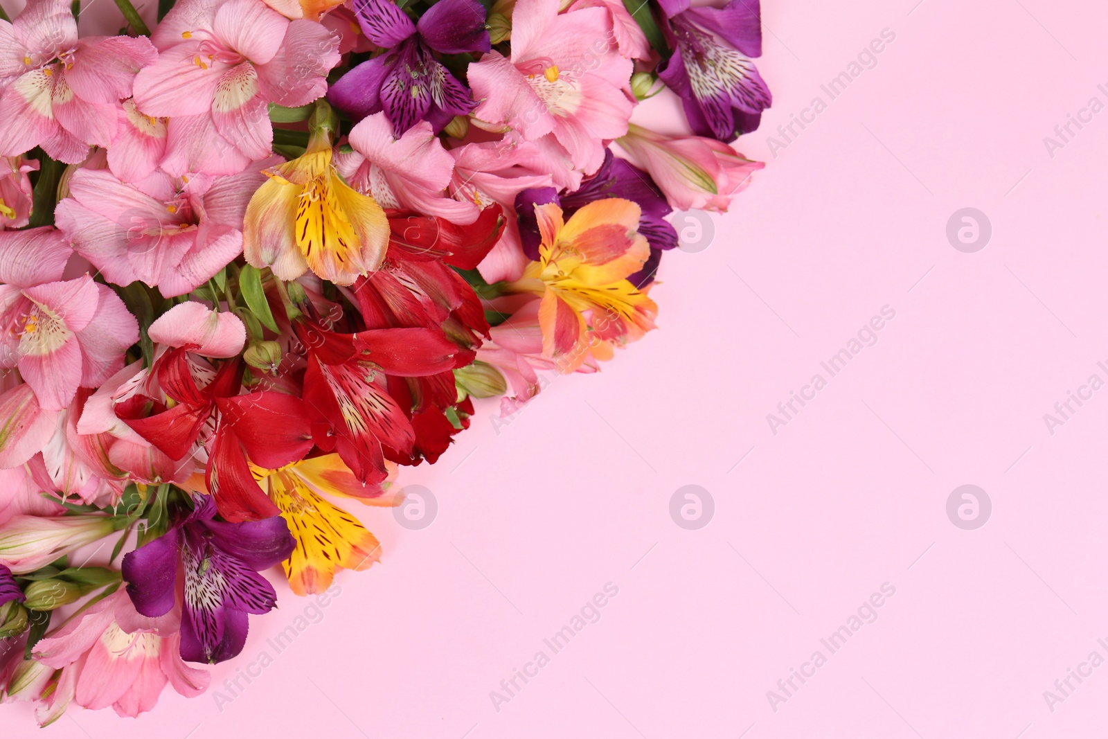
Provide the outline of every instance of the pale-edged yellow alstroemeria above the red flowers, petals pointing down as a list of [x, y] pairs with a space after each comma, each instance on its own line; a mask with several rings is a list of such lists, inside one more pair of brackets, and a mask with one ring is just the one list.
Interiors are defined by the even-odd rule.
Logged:
[[266, 170], [246, 207], [246, 260], [293, 280], [308, 269], [336, 285], [350, 285], [381, 264], [389, 240], [384, 211], [347, 185], [331, 163], [326, 136], [291, 162]]

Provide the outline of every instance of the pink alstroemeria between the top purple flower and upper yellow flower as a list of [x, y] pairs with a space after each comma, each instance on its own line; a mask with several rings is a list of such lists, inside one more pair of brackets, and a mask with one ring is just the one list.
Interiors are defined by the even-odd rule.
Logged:
[[481, 207], [445, 194], [454, 160], [431, 124], [420, 121], [399, 138], [384, 112], [362, 119], [350, 131], [352, 152], [336, 151], [335, 168], [382, 208], [403, 208], [466, 226]]

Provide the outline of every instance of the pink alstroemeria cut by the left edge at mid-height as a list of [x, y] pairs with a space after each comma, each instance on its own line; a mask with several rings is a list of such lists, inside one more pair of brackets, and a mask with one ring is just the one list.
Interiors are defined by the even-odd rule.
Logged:
[[0, 367], [19, 368], [43, 410], [106, 380], [138, 340], [112, 288], [89, 275], [62, 279], [72, 253], [49, 227], [0, 232]]

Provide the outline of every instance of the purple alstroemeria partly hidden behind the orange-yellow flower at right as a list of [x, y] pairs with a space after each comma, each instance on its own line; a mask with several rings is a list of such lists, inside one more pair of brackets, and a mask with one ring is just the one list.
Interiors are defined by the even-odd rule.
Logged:
[[529, 259], [538, 260], [538, 245], [542, 237], [538, 233], [538, 222], [535, 219], [536, 205], [557, 203], [568, 219], [578, 208], [605, 197], [622, 197], [637, 203], [642, 209], [638, 233], [646, 236], [646, 240], [650, 244], [650, 256], [643, 265], [643, 269], [627, 279], [636, 287], [649, 285], [658, 270], [661, 253], [677, 246], [677, 230], [666, 220], [673, 208], [650, 179], [650, 175], [613, 156], [612, 150], [605, 154], [601, 168], [572, 193], [558, 195], [553, 187], [532, 187], [520, 192], [515, 198], [515, 212], [519, 214], [523, 253]]

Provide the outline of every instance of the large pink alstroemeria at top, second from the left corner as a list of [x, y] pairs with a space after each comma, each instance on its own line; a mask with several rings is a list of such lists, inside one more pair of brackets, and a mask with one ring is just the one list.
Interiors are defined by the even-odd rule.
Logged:
[[181, 0], [151, 39], [161, 53], [135, 79], [134, 103], [171, 116], [162, 167], [175, 175], [234, 174], [269, 156], [268, 104], [321, 96], [340, 59], [327, 28], [261, 0]]

